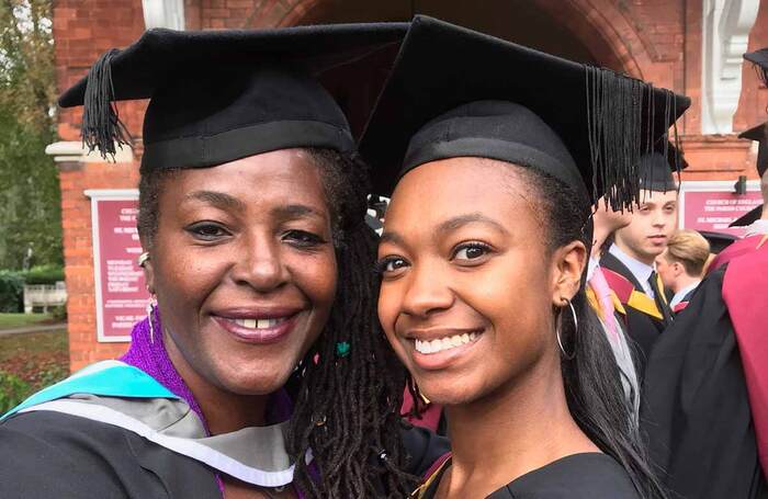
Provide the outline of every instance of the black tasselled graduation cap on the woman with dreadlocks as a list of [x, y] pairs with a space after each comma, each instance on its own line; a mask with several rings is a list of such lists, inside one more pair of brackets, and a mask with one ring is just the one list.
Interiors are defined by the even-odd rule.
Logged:
[[325, 88], [321, 80], [396, 47], [407, 27], [373, 23], [150, 30], [129, 47], [102, 55], [59, 104], [84, 104], [83, 140], [106, 157], [114, 155], [115, 143], [129, 141], [113, 101], [150, 99], [143, 171], [211, 167], [292, 147], [348, 152], [354, 139], [335, 98], [345, 101], [346, 91], [366, 84], [377, 92], [386, 71], [364, 68], [342, 88]]

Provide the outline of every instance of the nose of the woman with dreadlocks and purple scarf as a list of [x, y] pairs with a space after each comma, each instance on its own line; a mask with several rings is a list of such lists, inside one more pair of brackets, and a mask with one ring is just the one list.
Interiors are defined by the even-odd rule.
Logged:
[[268, 235], [244, 237], [238, 245], [231, 279], [259, 293], [270, 293], [287, 282], [289, 271], [281, 258], [281, 245]]

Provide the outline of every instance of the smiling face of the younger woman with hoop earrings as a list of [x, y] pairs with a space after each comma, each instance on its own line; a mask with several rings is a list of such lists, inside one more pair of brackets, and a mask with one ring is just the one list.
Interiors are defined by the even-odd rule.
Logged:
[[[576, 293], [586, 249], [547, 249], [519, 170], [477, 158], [434, 161], [408, 172], [392, 197], [379, 317], [434, 402], [476, 400], [537, 370], [560, 377], [552, 310]], [[578, 264], [563, 265], [576, 253]]]

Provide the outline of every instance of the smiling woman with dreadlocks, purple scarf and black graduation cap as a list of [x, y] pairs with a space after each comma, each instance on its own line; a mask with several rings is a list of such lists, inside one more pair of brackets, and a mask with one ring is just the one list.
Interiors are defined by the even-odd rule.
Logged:
[[[153, 304], [120, 361], [4, 416], [1, 497], [411, 490], [404, 375], [374, 326], [365, 170], [315, 77], [405, 29], [149, 31], [61, 98], [84, 103], [102, 152], [125, 138], [111, 101], [151, 98], [138, 233]], [[428, 456], [414, 457], [418, 472]]]

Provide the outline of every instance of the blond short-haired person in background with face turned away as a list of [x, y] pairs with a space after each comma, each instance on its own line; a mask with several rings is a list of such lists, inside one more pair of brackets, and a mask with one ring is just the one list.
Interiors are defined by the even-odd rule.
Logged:
[[667, 248], [656, 257], [656, 272], [664, 286], [675, 294], [669, 300], [675, 315], [688, 306], [709, 258], [710, 243], [701, 234], [690, 229], [673, 234]]

